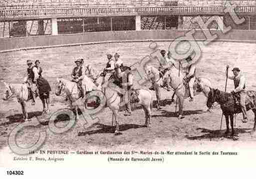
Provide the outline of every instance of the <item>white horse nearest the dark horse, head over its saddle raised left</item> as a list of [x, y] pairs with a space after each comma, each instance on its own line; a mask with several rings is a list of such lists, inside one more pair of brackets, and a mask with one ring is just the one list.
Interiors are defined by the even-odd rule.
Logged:
[[[184, 99], [188, 98], [190, 96], [190, 91], [189, 89], [186, 87], [186, 85], [184, 84], [184, 76], [183, 74], [180, 72], [179, 70], [175, 67], [172, 67], [170, 70], [168, 70], [164, 77], [164, 79], [169, 78], [169, 84], [170, 86], [174, 89], [174, 92], [178, 98], [178, 103], [179, 103], [179, 113], [178, 113], [178, 117], [179, 119], [183, 118], [183, 103], [184, 103]], [[193, 86], [194, 91], [193, 92], [194, 96], [198, 95], [199, 92], [203, 92], [205, 94], [206, 97], [208, 97], [208, 93], [210, 92], [209, 87], [212, 86], [211, 82], [206, 79], [206, 78], [196, 78], [195, 79], [195, 83], [196, 84], [204, 84], [202, 86], [202, 89], [199, 90], [195, 90], [196, 86]], [[211, 109], [209, 109], [211, 110]]]

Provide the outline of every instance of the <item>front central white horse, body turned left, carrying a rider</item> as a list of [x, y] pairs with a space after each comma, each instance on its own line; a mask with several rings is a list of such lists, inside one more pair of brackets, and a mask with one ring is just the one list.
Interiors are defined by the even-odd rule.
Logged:
[[[97, 84], [102, 84], [104, 77], [99, 76], [97, 81]], [[113, 111], [113, 115], [115, 116], [116, 120], [116, 130], [115, 134], [119, 134], [119, 116], [118, 111], [120, 109], [121, 104], [121, 97], [117, 92], [118, 87], [112, 86], [113, 84], [106, 84], [106, 86], [102, 86], [102, 92], [105, 95], [105, 98], [107, 100], [106, 106], [110, 108], [111, 111]], [[119, 88], [120, 89], [120, 88]], [[145, 126], [148, 127], [151, 124], [151, 110], [152, 110], [152, 95], [151, 92], [146, 89], [137, 89], [138, 93], [138, 103], [136, 103], [136, 106], [141, 105], [143, 106], [143, 110], [145, 112]], [[88, 94], [89, 95], [89, 94]]]

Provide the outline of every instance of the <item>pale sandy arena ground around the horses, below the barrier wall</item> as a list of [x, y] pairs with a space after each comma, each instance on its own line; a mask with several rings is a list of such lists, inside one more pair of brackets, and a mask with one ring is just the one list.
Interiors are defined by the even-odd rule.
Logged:
[[[170, 42], [157, 42], [160, 48], [168, 49]], [[204, 46], [199, 42], [202, 49], [202, 60], [198, 64], [198, 76], [211, 80], [216, 88], [224, 90], [225, 69], [229, 64], [231, 68], [240, 67], [246, 77], [248, 89], [256, 89], [256, 48], [251, 43], [235, 42], [214, 42]], [[62, 77], [70, 79], [70, 73], [75, 66], [74, 59], [83, 57], [85, 63], [96, 66], [98, 70], [105, 67], [106, 56], [110, 52], [118, 52], [124, 64], [131, 65], [138, 59], [149, 55], [152, 50], [148, 47], [149, 42], [136, 43], [104, 43], [85, 46], [71, 46], [47, 49], [35, 49], [27, 51], [15, 51], [2, 53], [0, 55], [0, 94], [3, 93], [3, 81], [9, 83], [21, 83], [26, 73], [26, 60], [35, 61], [39, 59], [43, 69], [43, 76], [49, 81], [52, 87], [51, 110], [65, 108], [67, 103], [62, 96], [57, 97], [55, 93], [55, 79]], [[179, 50], [186, 51], [187, 45], [182, 45]], [[230, 71], [231, 72], [231, 71]], [[233, 81], [228, 81], [228, 91], [233, 90]], [[155, 92], [151, 91], [154, 100]], [[161, 89], [162, 99], [170, 99], [172, 91]], [[195, 97], [194, 102], [185, 100], [185, 118], [178, 120], [175, 116], [175, 103], [168, 103], [163, 109], [152, 111], [152, 125], [144, 128], [144, 111], [137, 109], [132, 116], [125, 117], [124, 112], [120, 112], [120, 131], [122, 135], [114, 136], [115, 130], [112, 127], [112, 113], [107, 108], [104, 113], [98, 115], [100, 121], [94, 127], [86, 130], [83, 126], [76, 124], [71, 130], [60, 135], [48, 134], [43, 148], [47, 149], [94, 149], [94, 148], [147, 148], [181, 147], [189, 146], [241, 146], [241, 144], [251, 144], [256, 142], [256, 137], [250, 132], [253, 128], [253, 115], [249, 112], [249, 122], [243, 124], [242, 115], [238, 115], [236, 121], [236, 135], [238, 140], [224, 137], [226, 124], [223, 122], [220, 131], [221, 109], [215, 108], [212, 113], [205, 112], [206, 98], [203, 94]], [[39, 100], [35, 106], [27, 103], [29, 118], [40, 117], [42, 105]], [[63, 117], [65, 118], [65, 117]], [[10, 131], [22, 121], [21, 108], [16, 99], [2, 101], [0, 99], [0, 149], [7, 146], [7, 137]], [[67, 123], [65, 119], [58, 122], [59, 126]], [[47, 123], [42, 123], [39, 127], [25, 128], [17, 136], [17, 143], [21, 147], [32, 145], [38, 138], [38, 131], [48, 128]], [[3, 152], [3, 151], [2, 151]], [[1, 153], [1, 152], [0, 152]]]

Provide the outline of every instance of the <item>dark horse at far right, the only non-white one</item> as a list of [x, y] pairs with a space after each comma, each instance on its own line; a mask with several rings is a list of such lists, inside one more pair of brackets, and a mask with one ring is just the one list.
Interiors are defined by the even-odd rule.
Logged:
[[[214, 102], [217, 102], [221, 105], [222, 112], [226, 118], [227, 131], [225, 134], [229, 133], [229, 118], [232, 133], [231, 136], [234, 136], [234, 114], [241, 113], [241, 107], [239, 104], [236, 104], [235, 97], [231, 93], [223, 92], [218, 89], [212, 89], [209, 92], [207, 107], [210, 108]], [[247, 99], [246, 99], [246, 108], [247, 111], [252, 110], [255, 116], [254, 128], [253, 132], [256, 130], [256, 92], [255, 91], [247, 91]]]

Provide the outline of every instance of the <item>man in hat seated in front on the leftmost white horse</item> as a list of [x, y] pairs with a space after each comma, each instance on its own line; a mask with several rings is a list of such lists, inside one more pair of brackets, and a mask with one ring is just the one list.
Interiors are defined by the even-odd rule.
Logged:
[[36, 82], [34, 82], [34, 72], [33, 72], [33, 66], [32, 61], [27, 60], [27, 76], [24, 78], [24, 83], [28, 83], [28, 87], [31, 89], [32, 92], [32, 105], [35, 105], [35, 94], [36, 94]]

